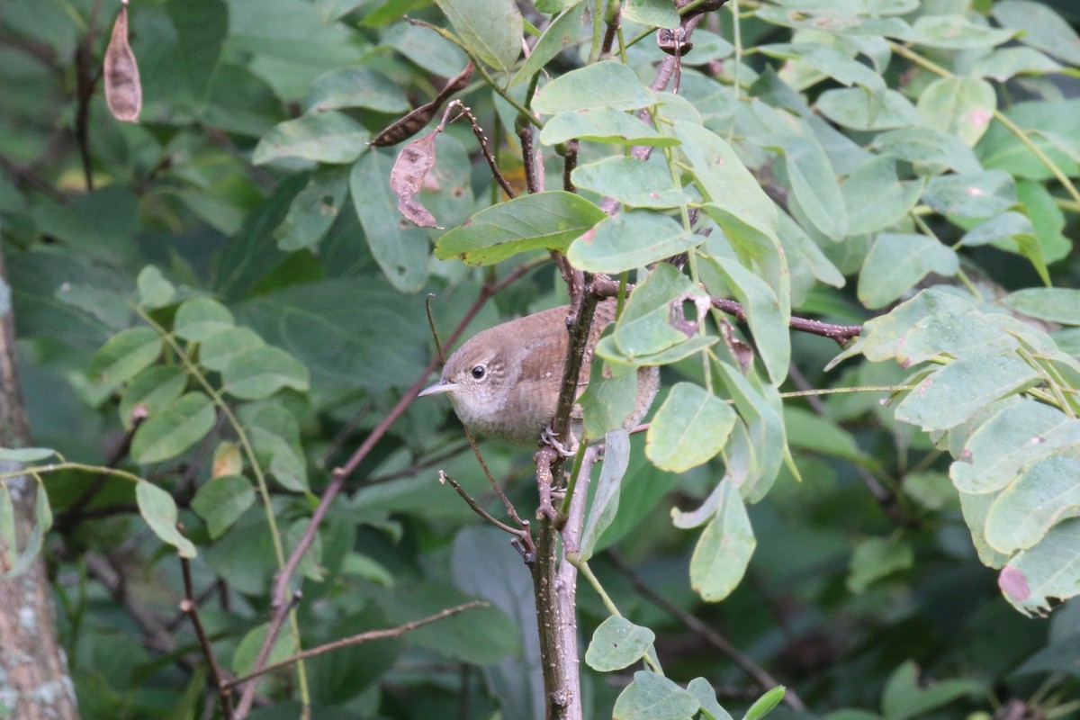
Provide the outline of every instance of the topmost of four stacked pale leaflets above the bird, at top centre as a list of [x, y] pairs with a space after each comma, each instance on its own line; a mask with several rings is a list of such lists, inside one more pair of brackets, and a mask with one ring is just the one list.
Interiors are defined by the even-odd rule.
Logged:
[[532, 109], [543, 114], [595, 110], [637, 110], [654, 105], [657, 97], [622, 63], [605, 60], [571, 70], [540, 89]]

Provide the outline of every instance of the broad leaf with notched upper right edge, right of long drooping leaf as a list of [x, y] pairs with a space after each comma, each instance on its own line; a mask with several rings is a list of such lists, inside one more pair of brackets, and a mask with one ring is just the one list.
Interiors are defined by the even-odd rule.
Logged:
[[848, 233], [867, 234], [900, 222], [919, 202], [924, 187], [921, 180], [901, 182], [892, 158], [870, 158], [840, 186], [848, 210]]

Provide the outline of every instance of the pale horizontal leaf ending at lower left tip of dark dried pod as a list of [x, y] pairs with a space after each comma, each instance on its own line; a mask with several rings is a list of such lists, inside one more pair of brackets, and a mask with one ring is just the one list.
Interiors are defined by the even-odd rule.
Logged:
[[349, 116], [329, 110], [279, 123], [255, 147], [252, 162], [262, 165], [282, 158], [323, 163], [351, 163], [367, 149], [370, 133]]

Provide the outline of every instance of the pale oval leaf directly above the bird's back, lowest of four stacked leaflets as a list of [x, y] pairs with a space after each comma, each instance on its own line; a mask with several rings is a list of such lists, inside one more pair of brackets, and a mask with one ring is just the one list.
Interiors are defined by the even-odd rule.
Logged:
[[703, 241], [666, 215], [624, 210], [570, 243], [566, 255], [577, 270], [613, 275], [685, 253]]

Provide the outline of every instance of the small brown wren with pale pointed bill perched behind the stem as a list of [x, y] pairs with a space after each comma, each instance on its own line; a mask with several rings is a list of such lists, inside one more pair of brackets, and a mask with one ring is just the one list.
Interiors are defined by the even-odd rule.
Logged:
[[[516, 445], [536, 444], [551, 425], [558, 404], [570, 340], [565, 324], [568, 311], [568, 305], [553, 308], [477, 332], [450, 355], [442, 378], [420, 396], [447, 393], [454, 411], [471, 429]], [[615, 300], [596, 305], [578, 395], [589, 384], [596, 341], [615, 320]], [[625, 426], [645, 417], [658, 385], [656, 367], [638, 369], [636, 407]], [[580, 407], [575, 406], [571, 419], [580, 421]]]

